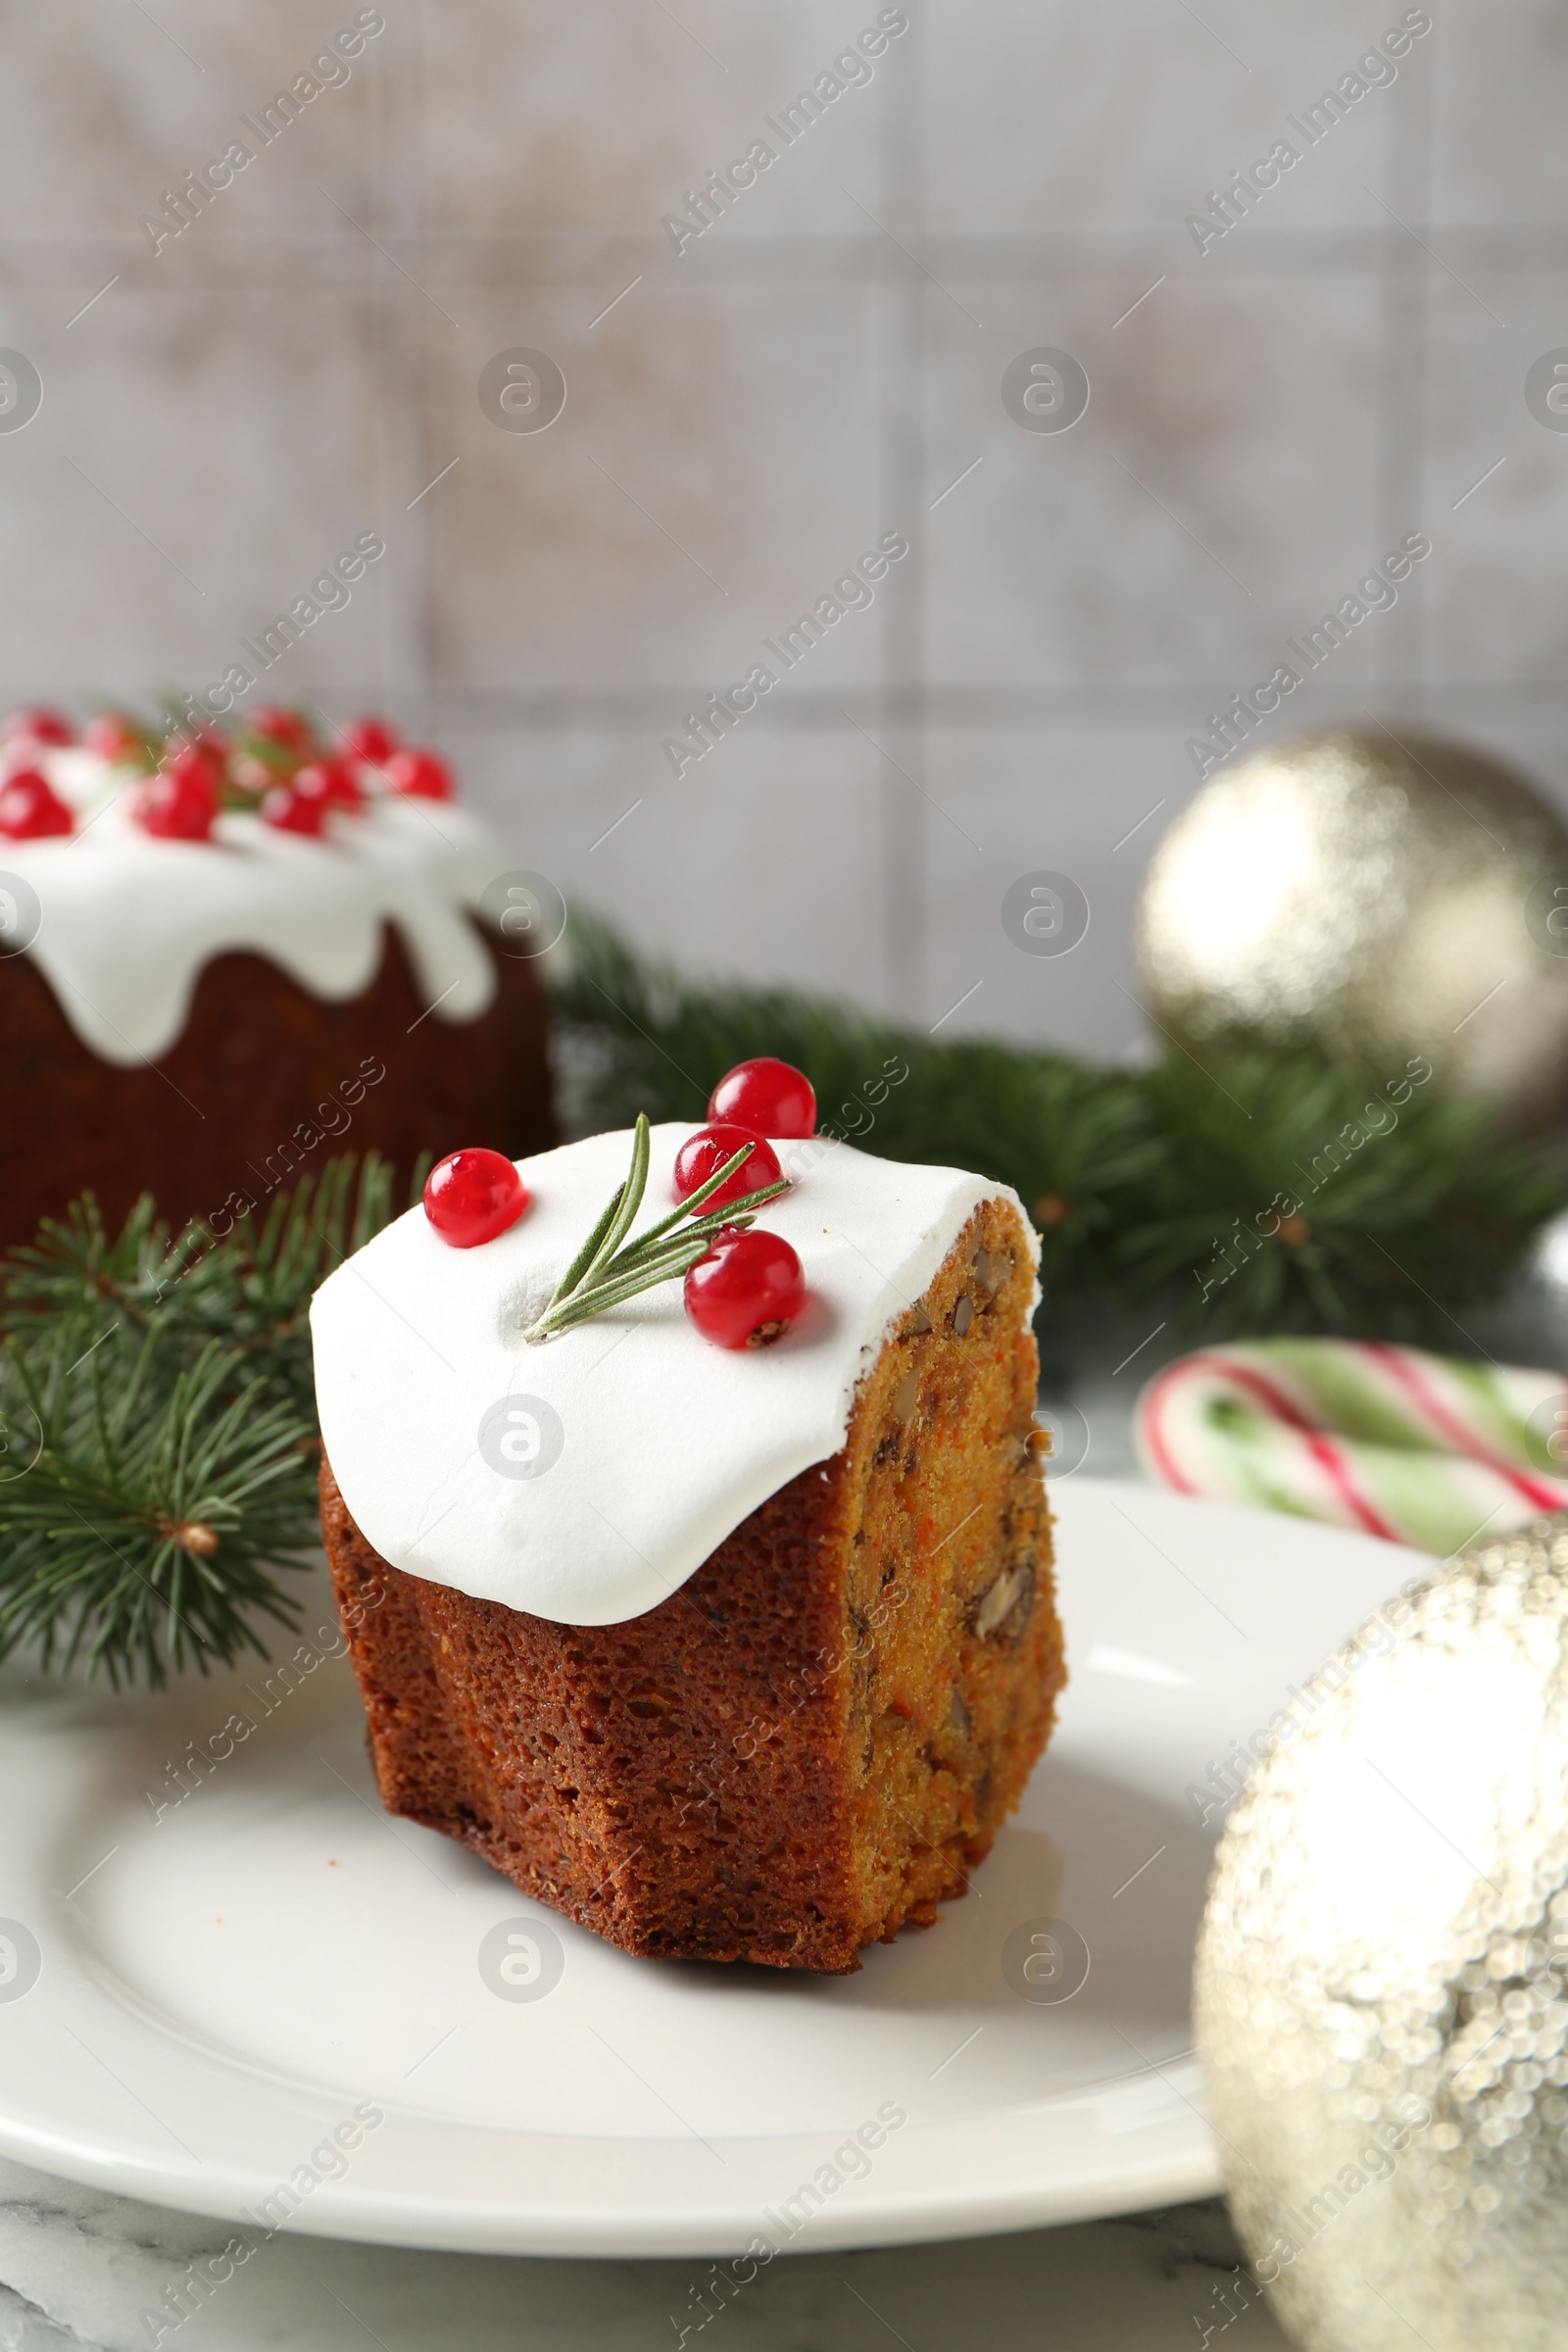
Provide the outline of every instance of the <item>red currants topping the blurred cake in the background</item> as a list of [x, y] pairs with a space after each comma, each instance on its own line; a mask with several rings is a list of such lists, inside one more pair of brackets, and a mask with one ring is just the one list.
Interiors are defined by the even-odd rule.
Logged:
[[143, 724], [125, 710], [89, 720], [80, 741], [59, 710], [12, 710], [0, 724], [0, 835], [45, 840], [75, 830], [68, 802], [47, 776], [52, 753], [85, 750], [129, 790], [143, 833], [205, 842], [223, 811], [259, 816], [280, 833], [320, 840], [336, 816], [371, 800], [451, 800], [451, 769], [397, 741], [386, 720], [324, 729], [303, 710], [266, 703], [230, 731], [176, 720]]

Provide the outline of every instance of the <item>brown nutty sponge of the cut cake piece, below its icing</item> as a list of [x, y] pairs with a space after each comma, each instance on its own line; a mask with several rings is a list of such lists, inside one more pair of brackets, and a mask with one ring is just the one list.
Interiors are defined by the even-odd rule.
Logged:
[[1032, 1240], [985, 1202], [849, 1439], [658, 1609], [555, 1625], [407, 1576], [322, 1468], [381, 1799], [628, 1952], [846, 1971], [966, 1889], [1065, 1682]]

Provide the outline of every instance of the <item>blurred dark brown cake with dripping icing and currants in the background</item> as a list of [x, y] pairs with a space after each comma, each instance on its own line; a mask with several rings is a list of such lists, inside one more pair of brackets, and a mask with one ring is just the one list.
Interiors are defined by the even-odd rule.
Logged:
[[503, 863], [378, 720], [14, 713], [0, 1247], [82, 1190], [223, 1235], [331, 1150], [550, 1143], [541, 993], [475, 913]]

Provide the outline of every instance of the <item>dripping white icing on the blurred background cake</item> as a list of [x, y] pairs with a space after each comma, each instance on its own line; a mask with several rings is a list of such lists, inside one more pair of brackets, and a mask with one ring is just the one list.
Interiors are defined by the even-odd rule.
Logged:
[[35, 889], [42, 924], [26, 953], [103, 1061], [167, 1054], [214, 955], [252, 950], [315, 997], [355, 997], [381, 967], [388, 922], [437, 1021], [489, 1009], [496, 969], [468, 908], [505, 856], [468, 809], [383, 795], [331, 818], [322, 840], [219, 816], [209, 842], [169, 842], [136, 826], [92, 753], [38, 764], [80, 830], [0, 840], [0, 868]]

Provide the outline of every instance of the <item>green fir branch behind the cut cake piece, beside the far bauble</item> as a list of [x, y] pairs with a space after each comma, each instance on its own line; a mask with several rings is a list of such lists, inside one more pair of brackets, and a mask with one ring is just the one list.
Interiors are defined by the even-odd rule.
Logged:
[[[1046, 1308], [1114, 1296], [1204, 1331], [1403, 1334], [1462, 1350], [1568, 1204], [1559, 1155], [1502, 1138], [1427, 1077], [1314, 1056], [1171, 1054], [1105, 1070], [992, 1040], [936, 1042], [788, 988], [693, 983], [574, 917], [555, 985], [590, 1127], [701, 1120], [738, 1061], [802, 1068], [820, 1120], [889, 1160], [1011, 1183], [1044, 1235]], [[886, 1080], [889, 1070], [903, 1080]]]

